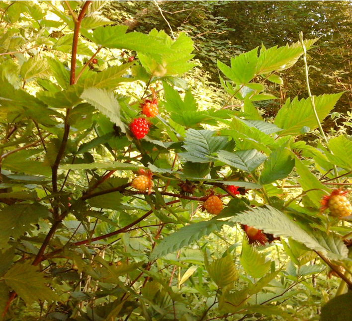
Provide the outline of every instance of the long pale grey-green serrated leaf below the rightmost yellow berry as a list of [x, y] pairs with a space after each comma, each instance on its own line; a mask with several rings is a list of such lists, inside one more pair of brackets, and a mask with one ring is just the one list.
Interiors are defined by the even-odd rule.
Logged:
[[[332, 233], [324, 235], [324, 237], [321, 234], [318, 234], [319, 237], [310, 235], [285, 214], [271, 206], [251, 209], [237, 215], [235, 219], [241, 224], [254, 226], [274, 236], [290, 237], [331, 259], [343, 259], [348, 254], [346, 245], [344, 249], [336, 244], [336, 237]], [[323, 238], [323, 241], [319, 238]], [[320, 241], [322, 241], [322, 244], [320, 244]]]

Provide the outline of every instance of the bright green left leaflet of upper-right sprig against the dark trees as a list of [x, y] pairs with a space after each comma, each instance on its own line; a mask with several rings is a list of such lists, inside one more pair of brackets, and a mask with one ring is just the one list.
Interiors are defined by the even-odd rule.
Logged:
[[231, 58], [231, 68], [218, 61], [219, 69], [236, 84], [250, 82], [257, 75], [257, 65], [258, 47], [235, 58]]

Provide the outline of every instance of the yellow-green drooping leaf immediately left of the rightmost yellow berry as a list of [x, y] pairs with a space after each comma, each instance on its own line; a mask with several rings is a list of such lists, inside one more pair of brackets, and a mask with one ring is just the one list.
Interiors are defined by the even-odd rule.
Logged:
[[309, 168], [298, 158], [295, 158], [295, 165], [296, 171], [299, 175], [298, 182], [301, 184], [303, 191], [308, 191], [313, 188], [321, 189], [312, 190], [306, 193], [316, 207], [320, 207], [322, 197], [327, 194], [324, 193], [324, 191], [330, 193], [330, 189], [326, 185], [322, 184], [320, 180], [309, 171]]

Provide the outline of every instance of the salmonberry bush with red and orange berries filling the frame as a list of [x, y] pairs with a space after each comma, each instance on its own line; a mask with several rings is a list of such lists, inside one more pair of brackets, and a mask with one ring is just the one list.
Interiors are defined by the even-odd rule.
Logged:
[[[310, 92], [317, 39], [218, 61], [203, 108], [192, 40], [105, 2], [0, 3], [0, 320], [351, 316], [352, 140], [322, 127], [343, 93]], [[299, 59], [306, 98], [265, 119]]]

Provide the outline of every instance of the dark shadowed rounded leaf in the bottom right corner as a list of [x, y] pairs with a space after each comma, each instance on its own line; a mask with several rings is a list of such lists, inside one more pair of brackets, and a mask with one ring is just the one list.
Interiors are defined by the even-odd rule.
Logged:
[[323, 308], [321, 321], [352, 321], [352, 291], [331, 299]]

